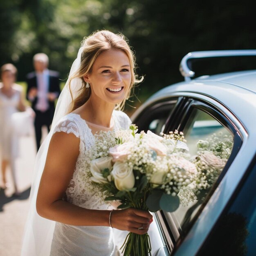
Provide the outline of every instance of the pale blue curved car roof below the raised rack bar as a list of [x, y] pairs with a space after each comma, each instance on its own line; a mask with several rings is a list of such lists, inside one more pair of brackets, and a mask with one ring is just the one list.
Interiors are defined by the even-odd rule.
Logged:
[[141, 111], [156, 101], [174, 96], [200, 99], [200, 95], [218, 101], [240, 120], [247, 131], [255, 131], [256, 70], [201, 76], [169, 85], [153, 94], [131, 118], [136, 118]]

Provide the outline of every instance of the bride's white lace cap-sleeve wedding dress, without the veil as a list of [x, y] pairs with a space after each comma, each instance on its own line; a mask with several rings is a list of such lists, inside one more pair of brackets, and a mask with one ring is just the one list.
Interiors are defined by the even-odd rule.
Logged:
[[[129, 117], [121, 111], [114, 110], [112, 119], [115, 130], [127, 129], [131, 124]], [[80, 153], [63, 200], [87, 209], [109, 209], [110, 205], [92, 192], [86, 175], [90, 171], [88, 150], [94, 145], [94, 136], [86, 121], [80, 115], [70, 113], [58, 122], [54, 132], [73, 133], [80, 139]], [[56, 222], [50, 255], [117, 256], [119, 251], [110, 227], [72, 226]]]

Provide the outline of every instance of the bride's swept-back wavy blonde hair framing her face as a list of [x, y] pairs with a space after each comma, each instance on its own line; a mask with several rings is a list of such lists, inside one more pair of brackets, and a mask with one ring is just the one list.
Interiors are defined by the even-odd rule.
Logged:
[[[79, 70], [70, 78], [69, 88], [72, 97], [72, 104], [70, 111], [72, 112], [76, 108], [82, 106], [91, 95], [91, 88], [86, 88], [85, 81], [83, 76], [90, 74], [92, 72], [92, 66], [96, 58], [104, 51], [108, 49], [119, 49], [126, 53], [129, 58], [130, 67], [131, 67], [131, 83], [129, 85], [128, 92], [124, 100], [117, 104], [115, 109], [122, 110], [126, 99], [130, 97], [131, 90], [135, 83], [139, 83], [143, 80], [141, 77], [140, 80], [137, 79], [137, 74], [135, 73], [135, 55], [132, 52], [130, 46], [128, 45], [128, 40], [121, 33], [114, 34], [108, 30], [95, 31], [87, 38], [84, 38], [82, 42], [82, 54], [81, 54], [81, 64]], [[72, 90], [71, 90], [71, 81], [72, 79], [82, 79], [82, 87], [79, 90], [79, 93], [75, 99], [73, 99]]]

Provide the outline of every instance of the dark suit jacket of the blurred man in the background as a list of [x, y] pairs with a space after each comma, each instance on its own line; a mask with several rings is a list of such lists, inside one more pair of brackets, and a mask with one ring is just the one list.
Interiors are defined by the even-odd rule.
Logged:
[[[31, 88], [37, 88], [37, 79], [36, 79], [36, 72], [31, 72], [27, 74], [27, 99], [28, 98], [28, 92]], [[48, 92], [55, 92], [57, 94], [57, 97], [61, 93], [60, 90], [60, 81], [59, 81], [59, 73], [53, 70], [49, 70], [49, 89]], [[37, 97], [33, 101], [31, 101], [32, 108], [35, 110], [35, 106], [37, 103]], [[50, 110], [50, 118], [53, 118], [55, 105], [54, 101], [48, 101], [49, 103], [49, 110]]]

